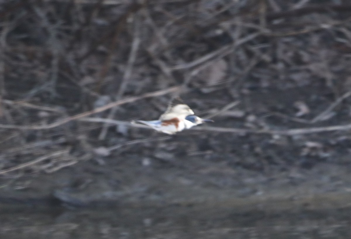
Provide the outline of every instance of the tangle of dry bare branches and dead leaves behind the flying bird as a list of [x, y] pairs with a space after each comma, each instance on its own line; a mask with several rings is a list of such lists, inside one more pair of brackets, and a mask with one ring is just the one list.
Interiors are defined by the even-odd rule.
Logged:
[[[0, 175], [135, 155], [350, 165], [350, 13], [342, 0], [5, 1]], [[128, 123], [176, 95], [216, 122], [176, 139]]]

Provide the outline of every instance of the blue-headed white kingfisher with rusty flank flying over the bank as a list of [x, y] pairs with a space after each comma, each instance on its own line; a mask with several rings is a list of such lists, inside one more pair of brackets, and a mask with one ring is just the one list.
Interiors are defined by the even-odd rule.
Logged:
[[169, 135], [176, 134], [184, 129], [202, 124], [204, 122], [213, 122], [194, 115], [194, 111], [178, 97], [168, 104], [166, 112], [164, 112], [158, 120], [143, 121], [137, 120], [132, 123], [146, 124], [154, 130], [164, 132]]

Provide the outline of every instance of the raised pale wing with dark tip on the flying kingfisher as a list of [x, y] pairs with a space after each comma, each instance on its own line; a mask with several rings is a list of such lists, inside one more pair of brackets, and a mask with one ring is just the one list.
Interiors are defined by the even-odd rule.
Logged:
[[177, 97], [174, 98], [169, 104], [166, 109], [166, 112], [164, 112], [159, 120], [160, 121], [165, 121], [165, 120], [171, 120], [173, 118], [179, 118], [180, 120], [184, 120], [186, 116], [188, 115], [193, 115], [194, 112], [190, 109], [190, 107], [185, 104], [181, 98]]

